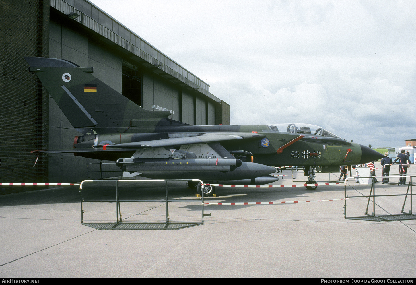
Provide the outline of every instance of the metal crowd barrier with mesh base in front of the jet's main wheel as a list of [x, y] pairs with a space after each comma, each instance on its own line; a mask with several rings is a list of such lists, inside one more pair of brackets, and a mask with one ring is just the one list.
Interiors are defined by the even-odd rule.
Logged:
[[[116, 199], [115, 200], [83, 200], [82, 196], [82, 189], [84, 183], [87, 182], [108, 182], [113, 181], [115, 182], [115, 192], [116, 192]], [[197, 226], [202, 225], [204, 222], [204, 216], [210, 216], [210, 214], [204, 214], [204, 197], [202, 197], [198, 200], [202, 201], [202, 220], [198, 222], [171, 222], [169, 221], [169, 208], [168, 203], [170, 202], [196, 202], [196, 200], [169, 200], [168, 199], [168, 181], [197, 181], [201, 184], [204, 184], [201, 180], [198, 179], [152, 179], [152, 180], [84, 180], [79, 185], [79, 188], [81, 189], [81, 224], [85, 226], [89, 226], [92, 228], [97, 228], [100, 230], [174, 230], [179, 228], [187, 228], [191, 226]], [[162, 200], [120, 200], [119, 199], [119, 182], [126, 182], [126, 183], [143, 183], [143, 182], [165, 182], [165, 189], [166, 189], [166, 199]], [[115, 202], [116, 203], [116, 221], [110, 222], [110, 223], [84, 223], [84, 209], [83, 209], [83, 203], [88, 202]], [[121, 208], [120, 203], [124, 202], [164, 202], [166, 204], [166, 220], [163, 222], [123, 222], [121, 218]]]

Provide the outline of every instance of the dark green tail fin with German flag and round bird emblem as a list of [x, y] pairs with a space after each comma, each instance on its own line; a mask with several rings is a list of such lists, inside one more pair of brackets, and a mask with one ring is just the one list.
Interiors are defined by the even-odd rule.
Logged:
[[25, 57], [29, 72], [39, 77], [43, 86], [76, 129], [126, 128], [131, 120], [158, 120], [169, 111], [149, 111], [130, 101], [92, 75], [92, 67], [43, 57]]

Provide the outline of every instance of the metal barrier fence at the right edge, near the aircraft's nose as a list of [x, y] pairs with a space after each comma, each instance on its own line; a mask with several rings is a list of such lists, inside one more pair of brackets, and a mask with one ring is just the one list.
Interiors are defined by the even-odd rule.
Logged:
[[[410, 178], [409, 183], [407, 184], [407, 191], [406, 194], [389, 194], [389, 195], [376, 195], [375, 192], [375, 181], [376, 178]], [[351, 219], [351, 220], [363, 220], [363, 221], [378, 221], [378, 222], [385, 222], [385, 221], [402, 221], [402, 220], [416, 220], [416, 214], [413, 213], [412, 210], [412, 196], [416, 195], [412, 192], [413, 186], [413, 178], [416, 176], [369, 176], [369, 177], [347, 177], [344, 181], [344, 218]], [[362, 196], [347, 196], [347, 181], [352, 179], [371, 179], [371, 188], [369, 195], [362, 195]], [[410, 194], [409, 194], [410, 189]], [[371, 195], [372, 193], [372, 195]], [[389, 197], [389, 196], [404, 196], [403, 207], [401, 208], [400, 214], [387, 214], [387, 215], [376, 215], [376, 197]], [[406, 204], [407, 196], [410, 196], [410, 210], [409, 213], [404, 212], [404, 206]], [[367, 208], [364, 213], [365, 216], [358, 216], [358, 217], [347, 217], [347, 198], [368, 198], [367, 201]], [[368, 213], [369, 203], [373, 199], [373, 212], [371, 215]]]

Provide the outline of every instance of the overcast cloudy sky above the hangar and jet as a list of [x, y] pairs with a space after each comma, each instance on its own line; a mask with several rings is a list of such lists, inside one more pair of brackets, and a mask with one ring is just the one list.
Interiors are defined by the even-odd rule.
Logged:
[[91, 0], [210, 85], [231, 124], [416, 139], [416, 1]]

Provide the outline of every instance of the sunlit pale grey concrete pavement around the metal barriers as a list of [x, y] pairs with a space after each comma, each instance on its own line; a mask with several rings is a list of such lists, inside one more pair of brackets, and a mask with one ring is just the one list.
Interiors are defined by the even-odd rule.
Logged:
[[[295, 182], [291, 176], [284, 176], [275, 184], [302, 184], [302, 176], [302, 172], [297, 172]], [[325, 181], [328, 177], [328, 173], [319, 173], [317, 180]], [[337, 177], [334, 175], [331, 180]], [[376, 184], [376, 194], [406, 192], [405, 186]], [[113, 189], [104, 183], [91, 188], [91, 195], [99, 193], [114, 198]], [[172, 183], [169, 189], [170, 198], [195, 199], [195, 203], [169, 203], [172, 221], [201, 220], [198, 198], [194, 191], [186, 189], [185, 182]], [[352, 185], [347, 191], [349, 196], [368, 195], [369, 186]], [[150, 183], [125, 186], [121, 192], [125, 198], [154, 199], [165, 195], [162, 184]], [[217, 193], [218, 197], [206, 198], [206, 202], [344, 198], [342, 186], [319, 186], [316, 191], [304, 187], [218, 187]], [[204, 218], [203, 225], [180, 230], [96, 230], [81, 224], [79, 201], [78, 186], [46, 187], [0, 196], [0, 276], [410, 278], [416, 275], [413, 267], [416, 221], [346, 220], [344, 201], [210, 205], [204, 208], [211, 216]], [[366, 202], [366, 198], [349, 199], [347, 215], [363, 216]], [[402, 205], [403, 197], [380, 197], [376, 199], [376, 213], [399, 213]], [[115, 203], [89, 203], [84, 209], [85, 220], [115, 220]], [[158, 202], [122, 203], [121, 211], [124, 221], [165, 219], [164, 205]]]

